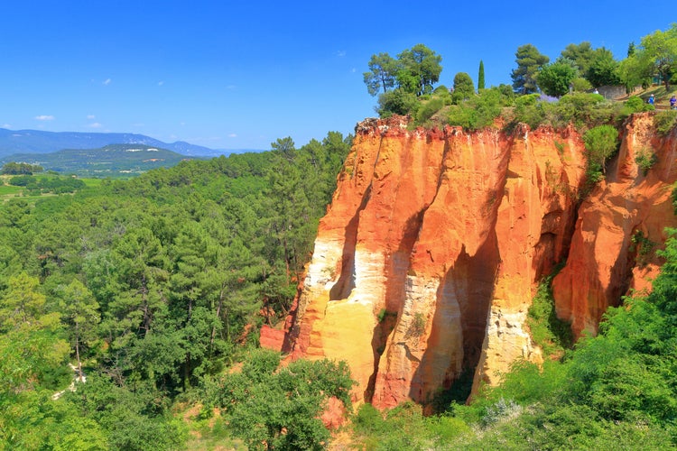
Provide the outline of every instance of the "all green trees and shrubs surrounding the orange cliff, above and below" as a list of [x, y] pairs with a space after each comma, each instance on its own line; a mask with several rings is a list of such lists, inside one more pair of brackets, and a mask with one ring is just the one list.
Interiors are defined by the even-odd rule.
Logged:
[[[677, 42], [677, 27], [666, 34]], [[597, 60], [586, 71], [575, 62], [586, 49], [547, 66], [520, 48], [512, 87], [476, 90], [457, 74], [450, 92], [433, 88], [441, 57], [414, 46], [396, 60], [379, 54], [365, 82], [384, 91], [379, 114], [417, 125], [574, 124], [594, 184], [617, 127], [654, 106], [585, 92], [603, 72], [590, 69]], [[598, 51], [598, 64], [633, 86], [656, 69], [667, 95], [674, 65], [647, 69], [647, 49], [643, 41], [626, 63]], [[523, 53], [540, 61], [529, 77]], [[568, 61], [578, 69], [560, 70]], [[580, 89], [543, 100], [558, 74]], [[659, 133], [675, 123], [677, 112], [654, 114]], [[352, 138], [329, 132], [297, 148], [286, 137], [269, 152], [56, 187], [28, 175], [37, 168], [9, 168], [13, 188], [31, 196], [13, 190], [0, 204], [0, 449], [325, 449], [339, 440], [320, 420], [331, 397], [348, 409], [337, 434], [346, 449], [677, 448], [677, 231], [656, 251], [654, 290], [609, 308], [598, 336], [576, 344], [554, 320], [546, 278], [529, 311], [543, 366], [517, 363], [470, 400], [467, 374], [427, 415], [413, 403], [353, 408], [345, 362], [281, 367], [279, 353], [260, 349], [260, 327], [290, 312]], [[651, 164], [647, 156], [643, 170]]]

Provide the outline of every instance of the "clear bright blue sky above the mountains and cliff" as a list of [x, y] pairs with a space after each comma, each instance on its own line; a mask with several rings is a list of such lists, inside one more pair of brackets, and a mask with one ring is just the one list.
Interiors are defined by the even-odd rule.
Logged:
[[[417, 43], [511, 83], [515, 51], [590, 41], [617, 59], [671, 18], [636, 2], [12, 0], [0, 25], [0, 127], [143, 133], [215, 149], [297, 145], [374, 116], [371, 55]], [[664, 8], [663, 8], [664, 9]]]

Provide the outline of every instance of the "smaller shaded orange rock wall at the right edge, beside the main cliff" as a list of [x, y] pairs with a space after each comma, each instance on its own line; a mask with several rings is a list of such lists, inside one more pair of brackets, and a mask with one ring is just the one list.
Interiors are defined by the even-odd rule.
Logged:
[[[666, 137], [654, 131], [653, 114], [626, 123], [617, 159], [606, 180], [581, 205], [564, 269], [552, 281], [557, 314], [571, 321], [578, 336], [596, 333], [609, 306], [628, 290], [651, 290], [661, 260], [654, 250], [665, 243], [665, 227], [676, 227], [672, 185], [677, 180], [677, 129]], [[654, 153], [643, 173], [637, 155]], [[645, 245], [633, 243], [644, 236]]]

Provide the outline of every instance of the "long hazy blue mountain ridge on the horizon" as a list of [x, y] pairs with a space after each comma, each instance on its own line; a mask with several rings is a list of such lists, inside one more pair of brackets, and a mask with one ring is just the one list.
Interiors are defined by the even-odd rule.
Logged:
[[0, 128], [0, 158], [15, 153], [49, 153], [63, 149], [97, 149], [110, 144], [140, 144], [193, 157], [217, 157], [232, 152], [242, 152], [218, 151], [183, 141], [162, 143], [162, 141], [150, 136], [136, 133], [43, 132], [41, 130], [7, 130]]

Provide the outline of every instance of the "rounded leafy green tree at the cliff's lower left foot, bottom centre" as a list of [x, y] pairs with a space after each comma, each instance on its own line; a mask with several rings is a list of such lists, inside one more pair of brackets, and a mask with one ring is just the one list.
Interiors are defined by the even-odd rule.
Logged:
[[242, 373], [206, 381], [205, 399], [226, 409], [230, 428], [250, 449], [321, 449], [329, 431], [319, 415], [329, 397], [350, 409], [348, 365], [299, 360], [278, 369], [279, 362], [271, 351], [249, 354]]

